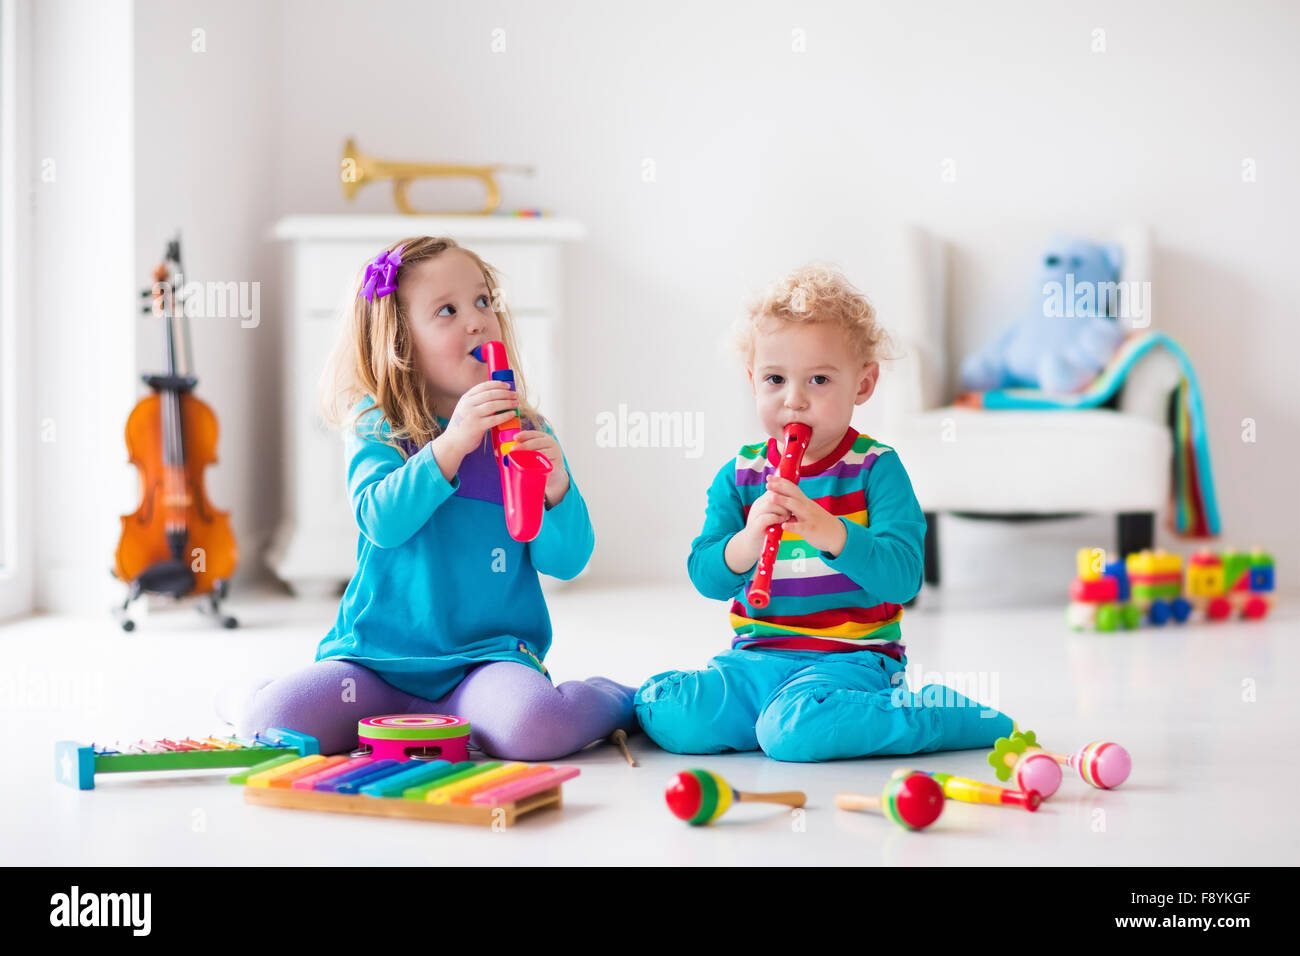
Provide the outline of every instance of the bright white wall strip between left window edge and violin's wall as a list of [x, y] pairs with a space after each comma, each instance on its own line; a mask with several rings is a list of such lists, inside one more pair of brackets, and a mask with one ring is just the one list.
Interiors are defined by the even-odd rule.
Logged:
[[34, 418], [22, 423], [35, 458], [35, 602], [103, 614], [134, 476], [122, 432], [133, 403], [135, 177], [130, 4], [32, 4], [31, 273], [23, 284], [36, 360]]

